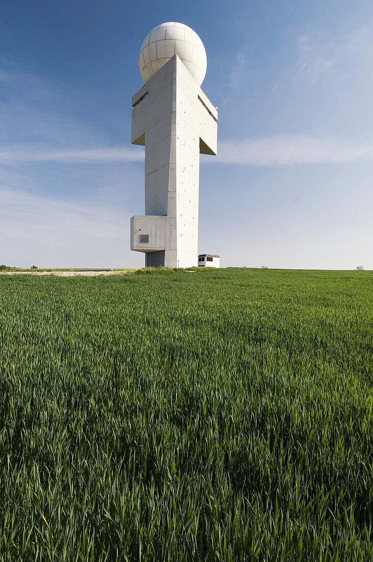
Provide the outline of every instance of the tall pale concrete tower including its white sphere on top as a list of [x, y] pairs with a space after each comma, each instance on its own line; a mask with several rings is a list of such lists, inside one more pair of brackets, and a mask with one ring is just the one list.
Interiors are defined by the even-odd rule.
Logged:
[[207, 60], [187, 25], [169, 22], [141, 46], [145, 85], [132, 98], [132, 144], [145, 145], [145, 215], [131, 218], [131, 250], [145, 265], [197, 265], [200, 153], [216, 155], [218, 111], [202, 92]]

